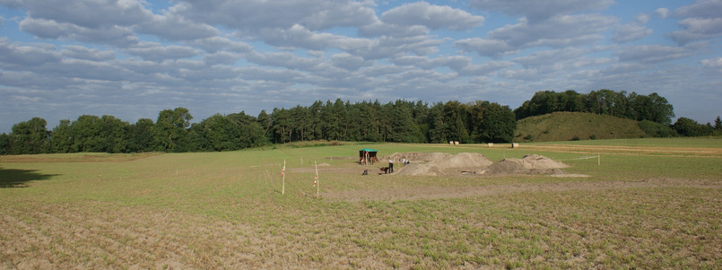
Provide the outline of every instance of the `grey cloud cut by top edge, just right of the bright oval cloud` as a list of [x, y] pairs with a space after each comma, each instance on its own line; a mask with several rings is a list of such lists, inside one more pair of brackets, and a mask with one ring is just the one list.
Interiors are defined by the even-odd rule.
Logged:
[[605, 10], [613, 0], [471, 0], [469, 5], [482, 11], [494, 10], [511, 15], [524, 15], [530, 22], [540, 22], [557, 15]]

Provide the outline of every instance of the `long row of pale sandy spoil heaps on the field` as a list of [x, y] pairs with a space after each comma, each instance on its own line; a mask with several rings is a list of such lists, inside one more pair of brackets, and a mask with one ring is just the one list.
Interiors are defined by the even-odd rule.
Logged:
[[504, 174], [563, 174], [561, 168], [568, 166], [560, 161], [552, 161], [538, 154], [526, 155], [522, 159], [504, 159], [493, 162], [483, 154], [461, 152], [451, 155], [444, 152], [404, 152], [394, 153], [390, 158], [400, 161], [406, 159], [411, 163], [396, 165], [398, 175], [460, 175], [462, 173], [485, 175]]

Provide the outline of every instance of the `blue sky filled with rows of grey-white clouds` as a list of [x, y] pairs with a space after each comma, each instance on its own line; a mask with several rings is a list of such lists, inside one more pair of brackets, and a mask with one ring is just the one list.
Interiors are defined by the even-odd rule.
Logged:
[[315, 100], [657, 92], [722, 115], [722, 0], [0, 0], [0, 133]]

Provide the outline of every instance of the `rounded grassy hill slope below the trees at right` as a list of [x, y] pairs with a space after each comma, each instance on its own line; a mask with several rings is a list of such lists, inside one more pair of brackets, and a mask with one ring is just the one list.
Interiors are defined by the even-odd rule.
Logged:
[[554, 112], [519, 120], [514, 141], [555, 142], [645, 135], [635, 120], [582, 112]]

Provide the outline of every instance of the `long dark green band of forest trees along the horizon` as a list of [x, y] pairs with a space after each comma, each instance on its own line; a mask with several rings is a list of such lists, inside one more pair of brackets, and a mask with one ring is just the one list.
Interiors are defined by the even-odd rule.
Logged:
[[339, 140], [356, 142], [509, 143], [517, 120], [554, 111], [578, 111], [631, 118], [652, 136], [712, 135], [722, 131], [689, 118], [674, 118], [673, 107], [657, 93], [609, 90], [539, 91], [513, 111], [489, 101], [461, 103], [396, 100], [351, 103], [316, 101], [309, 107], [262, 110], [257, 117], [245, 112], [216, 114], [198, 123], [185, 108], [164, 109], [158, 118], [135, 124], [112, 116], [83, 115], [61, 120], [48, 130], [43, 118], [13, 125], [0, 134], [0, 154], [65, 152], [204, 152], [232, 151], [266, 144]]

